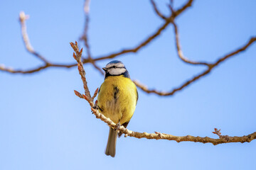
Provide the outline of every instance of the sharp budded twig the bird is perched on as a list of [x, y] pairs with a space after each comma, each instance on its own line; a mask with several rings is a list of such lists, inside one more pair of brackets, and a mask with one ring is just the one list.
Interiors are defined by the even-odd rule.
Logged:
[[[85, 100], [90, 104], [92, 113], [95, 114], [96, 118], [100, 118], [100, 120], [104, 121], [107, 123], [112, 128], [117, 128], [120, 132], [124, 133], [125, 136], [129, 137], [136, 137], [136, 138], [146, 138], [146, 139], [155, 139], [155, 140], [175, 140], [176, 142], [183, 142], [183, 141], [191, 141], [191, 142], [202, 142], [202, 143], [212, 143], [213, 145], [218, 145], [221, 143], [230, 143], [230, 142], [250, 142], [252, 140], [256, 139], [256, 132], [247, 135], [247, 136], [242, 136], [242, 137], [220, 137], [220, 139], [213, 139], [210, 137], [193, 137], [191, 135], [187, 136], [174, 136], [174, 135], [168, 135], [166, 133], [161, 133], [161, 132], [155, 132], [155, 133], [146, 133], [146, 132], [134, 132], [132, 130], [128, 130], [127, 128], [124, 128], [124, 126], [117, 126], [110, 118], [106, 118], [105, 115], [102, 115], [97, 111], [97, 106], [95, 104], [97, 101], [95, 101], [95, 104], [93, 103], [93, 98], [97, 95], [98, 89], [96, 89], [95, 94], [93, 97], [90, 97], [90, 92], [87, 87], [87, 81], [85, 78], [85, 70], [82, 67], [82, 62], [81, 62], [81, 55], [82, 55], [82, 50], [79, 51], [78, 49], [78, 44], [75, 42], [70, 42], [70, 45], [73, 47], [73, 50], [75, 51], [73, 57], [75, 60], [78, 62], [78, 71], [79, 74], [81, 75], [82, 82], [84, 84], [84, 89], [85, 89], [85, 95], [80, 94], [78, 91], [75, 91], [75, 95], [77, 95], [80, 98], [85, 98]], [[216, 131], [220, 133], [219, 131]], [[217, 134], [217, 133], [216, 133]]]

